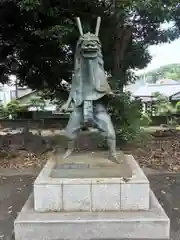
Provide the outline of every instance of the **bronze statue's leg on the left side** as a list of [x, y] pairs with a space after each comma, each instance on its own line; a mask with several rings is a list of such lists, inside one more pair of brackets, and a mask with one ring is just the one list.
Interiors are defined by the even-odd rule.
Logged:
[[75, 140], [77, 139], [78, 133], [81, 129], [82, 120], [82, 107], [77, 107], [70, 115], [67, 127], [65, 129], [65, 136], [68, 138], [68, 148], [64, 154], [64, 158], [69, 157], [74, 151]]

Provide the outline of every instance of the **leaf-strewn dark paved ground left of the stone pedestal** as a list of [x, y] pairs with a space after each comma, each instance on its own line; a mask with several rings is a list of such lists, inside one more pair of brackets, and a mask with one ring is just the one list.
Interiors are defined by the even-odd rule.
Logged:
[[13, 222], [31, 190], [34, 176], [0, 177], [0, 240], [13, 239]]

